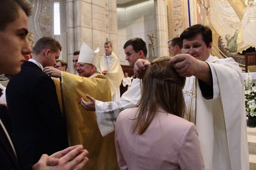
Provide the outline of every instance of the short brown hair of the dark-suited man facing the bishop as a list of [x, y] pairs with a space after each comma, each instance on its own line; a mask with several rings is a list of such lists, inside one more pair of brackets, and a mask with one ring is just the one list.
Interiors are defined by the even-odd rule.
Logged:
[[60, 43], [52, 37], [43, 36], [34, 45], [33, 53], [40, 54], [44, 49], [50, 49], [52, 52], [61, 51]]

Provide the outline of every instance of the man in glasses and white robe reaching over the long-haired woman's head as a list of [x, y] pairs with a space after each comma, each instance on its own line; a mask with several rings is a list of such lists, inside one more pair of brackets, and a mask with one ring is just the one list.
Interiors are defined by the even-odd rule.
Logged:
[[[209, 27], [193, 25], [180, 38], [183, 54], [169, 63], [187, 77], [186, 118], [197, 127], [205, 169], [249, 169], [242, 69], [232, 58], [210, 54]], [[149, 63], [137, 61], [135, 75], [142, 78]]]

